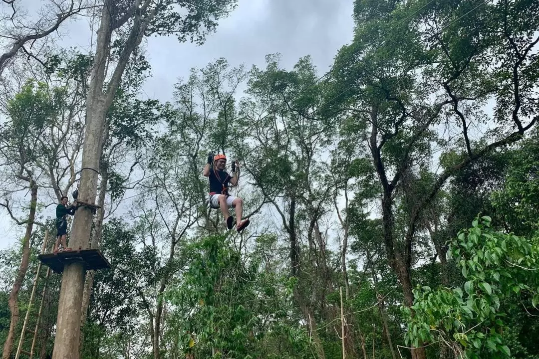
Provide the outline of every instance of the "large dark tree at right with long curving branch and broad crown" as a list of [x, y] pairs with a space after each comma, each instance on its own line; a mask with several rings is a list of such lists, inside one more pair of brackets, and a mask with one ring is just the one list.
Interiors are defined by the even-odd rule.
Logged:
[[[407, 306], [413, 304], [411, 268], [426, 207], [455, 172], [519, 140], [536, 123], [536, 80], [529, 69], [539, 38], [523, 29], [538, 24], [534, 16], [517, 15], [524, 3], [355, 3], [354, 43], [337, 56], [334, 79], [348, 89], [340, 95], [342, 110], [367, 128], [388, 264]], [[480, 107], [489, 99], [497, 104], [491, 116]], [[497, 124], [497, 136], [474, 131], [483, 121]], [[447, 133], [438, 131], [440, 125]], [[396, 226], [407, 178], [428, 168], [433, 146], [444, 144], [465, 149], [466, 156], [436, 173], [403, 213], [404, 226]], [[412, 356], [423, 359], [425, 350]]]

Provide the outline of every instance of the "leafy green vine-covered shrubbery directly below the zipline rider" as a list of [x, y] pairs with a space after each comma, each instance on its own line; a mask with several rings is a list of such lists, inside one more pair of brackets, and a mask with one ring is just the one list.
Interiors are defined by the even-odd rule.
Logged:
[[217, 357], [253, 358], [261, 355], [258, 350], [264, 341], [283, 334], [287, 334], [290, 346], [305, 349], [308, 341], [304, 334], [280, 322], [286, 312], [284, 293], [279, 291], [286, 286], [289, 295], [290, 282], [260, 271], [255, 257], [241, 258], [230, 247], [230, 239], [210, 236], [194, 242], [182, 285], [165, 296], [172, 305], [190, 308], [178, 335], [182, 351], [197, 356], [215, 356], [217, 351]]

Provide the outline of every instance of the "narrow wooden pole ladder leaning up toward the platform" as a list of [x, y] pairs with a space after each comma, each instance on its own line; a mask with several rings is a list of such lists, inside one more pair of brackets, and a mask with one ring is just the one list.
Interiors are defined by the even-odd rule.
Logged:
[[[48, 241], [49, 241], [49, 230], [47, 229], [45, 231], [45, 239], [43, 240], [43, 248], [41, 250], [42, 254], [45, 254], [45, 251], [47, 249], [47, 242]], [[26, 315], [24, 316], [23, 329], [20, 332], [19, 344], [17, 346], [17, 353], [15, 354], [15, 359], [19, 359], [21, 354], [29, 356], [30, 359], [32, 359], [32, 357], [34, 355], [34, 348], [36, 347], [36, 341], [37, 341], [37, 336], [38, 336], [39, 322], [40, 322], [41, 316], [43, 314], [43, 305], [45, 303], [45, 295], [46, 295], [46, 291], [47, 291], [47, 282], [49, 281], [49, 276], [51, 274], [51, 269], [47, 268], [47, 273], [45, 274], [45, 283], [43, 285], [43, 290], [42, 290], [42, 293], [41, 293], [41, 301], [40, 301], [40, 304], [39, 304], [39, 310], [38, 310], [38, 314], [37, 314], [37, 318], [36, 318], [36, 326], [32, 330], [31, 328], [29, 328], [29, 320], [30, 320], [30, 313], [32, 312], [31, 311], [32, 304], [33, 304], [34, 299], [36, 298], [37, 285], [38, 285], [38, 281], [39, 281], [39, 272], [41, 271], [41, 265], [42, 265], [41, 262], [39, 262], [38, 265], [37, 265], [36, 277], [34, 278], [34, 281], [33, 281], [32, 293], [30, 294], [30, 302], [28, 304], [28, 308], [26, 309]], [[26, 334], [32, 334], [33, 335], [33, 337], [32, 337], [32, 346], [30, 348], [30, 351], [23, 349], [24, 338], [25, 338]]]

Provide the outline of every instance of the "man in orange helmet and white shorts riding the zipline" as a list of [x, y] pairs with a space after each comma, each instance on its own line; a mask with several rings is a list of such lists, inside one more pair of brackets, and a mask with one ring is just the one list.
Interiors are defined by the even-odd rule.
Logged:
[[[213, 156], [213, 153], [208, 155], [208, 163], [204, 166], [202, 174], [210, 180], [210, 206], [212, 208], [220, 208], [225, 218], [226, 228], [232, 229], [234, 223], [238, 223], [236, 229], [242, 231], [249, 225], [249, 220], [241, 221], [243, 213], [243, 200], [229, 194], [229, 184], [231, 187], [238, 185], [239, 165], [237, 162], [232, 163], [232, 177], [225, 171], [226, 156], [218, 154]], [[234, 208], [236, 212], [236, 221], [230, 215], [229, 208]]]

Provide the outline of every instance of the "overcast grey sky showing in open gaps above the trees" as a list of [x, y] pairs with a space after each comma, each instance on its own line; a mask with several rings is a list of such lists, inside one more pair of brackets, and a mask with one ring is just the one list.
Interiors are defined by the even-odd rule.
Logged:
[[[30, 5], [41, 0], [26, 0]], [[23, 2], [23, 3], [24, 3]], [[311, 55], [320, 74], [333, 63], [337, 50], [353, 36], [353, 0], [239, 0], [237, 9], [219, 23], [217, 32], [202, 46], [179, 44], [174, 37], [149, 38], [147, 57], [152, 77], [143, 92], [150, 98], [170, 100], [172, 86], [186, 78], [190, 68], [203, 67], [224, 57], [232, 66], [264, 66], [265, 55], [281, 53], [290, 68]], [[62, 29], [61, 46], [89, 49], [89, 19], [78, 19]], [[49, 207], [43, 215], [54, 216]], [[0, 248], [23, 235], [7, 214], [0, 212]]]

